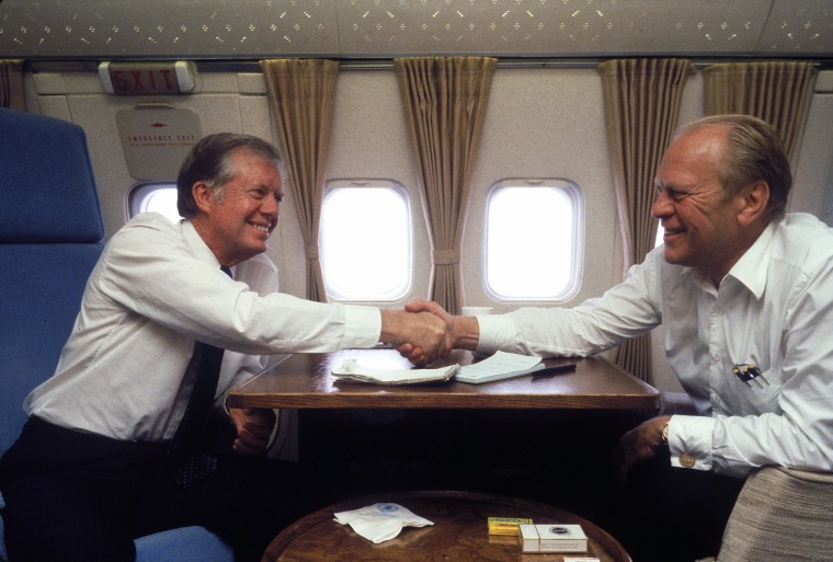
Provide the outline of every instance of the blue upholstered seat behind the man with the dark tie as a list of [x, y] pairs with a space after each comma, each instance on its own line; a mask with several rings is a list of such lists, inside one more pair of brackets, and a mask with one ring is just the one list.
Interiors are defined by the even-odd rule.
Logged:
[[[0, 107], [0, 455], [26, 421], [23, 399], [55, 370], [103, 238], [83, 129]], [[0, 518], [5, 560], [2, 530]], [[140, 562], [233, 560], [199, 527], [136, 546]]]

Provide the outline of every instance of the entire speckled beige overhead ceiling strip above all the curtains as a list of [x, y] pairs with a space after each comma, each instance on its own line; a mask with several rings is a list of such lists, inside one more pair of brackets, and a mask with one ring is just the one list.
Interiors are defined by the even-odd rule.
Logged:
[[833, 55], [831, 0], [2, 0], [28, 59]]

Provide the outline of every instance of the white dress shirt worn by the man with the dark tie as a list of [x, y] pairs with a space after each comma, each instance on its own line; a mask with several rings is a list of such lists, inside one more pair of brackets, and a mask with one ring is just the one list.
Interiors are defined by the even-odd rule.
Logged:
[[[276, 293], [263, 254], [233, 280], [189, 220], [139, 215], [107, 243], [55, 375], [24, 402], [30, 415], [123, 440], [173, 437], [193, 386], [194, 340], [227, 349], [218, 398], [263, 366], [263, 354], [373, 347], [378, 309]], [[219, 400], [221, 402], [221, 400]]]

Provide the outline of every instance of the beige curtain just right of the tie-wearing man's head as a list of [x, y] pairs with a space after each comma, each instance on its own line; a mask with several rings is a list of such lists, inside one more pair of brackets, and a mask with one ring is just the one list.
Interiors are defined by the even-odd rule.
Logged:
[[304, 236], [306, 296], [327, 302], [318, 257], [318, 225], [339, 64], [323, 59], [277, 59], [262, 60], [260, 65]]

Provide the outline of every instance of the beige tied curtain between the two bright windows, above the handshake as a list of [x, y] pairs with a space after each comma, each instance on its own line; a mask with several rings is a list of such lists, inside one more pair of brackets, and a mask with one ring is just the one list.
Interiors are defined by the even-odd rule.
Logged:
[[429, 298], [458, 314], [463, 307], [460, 245], [497, 59], [397, 58], [393, 65], [431, 232]]

